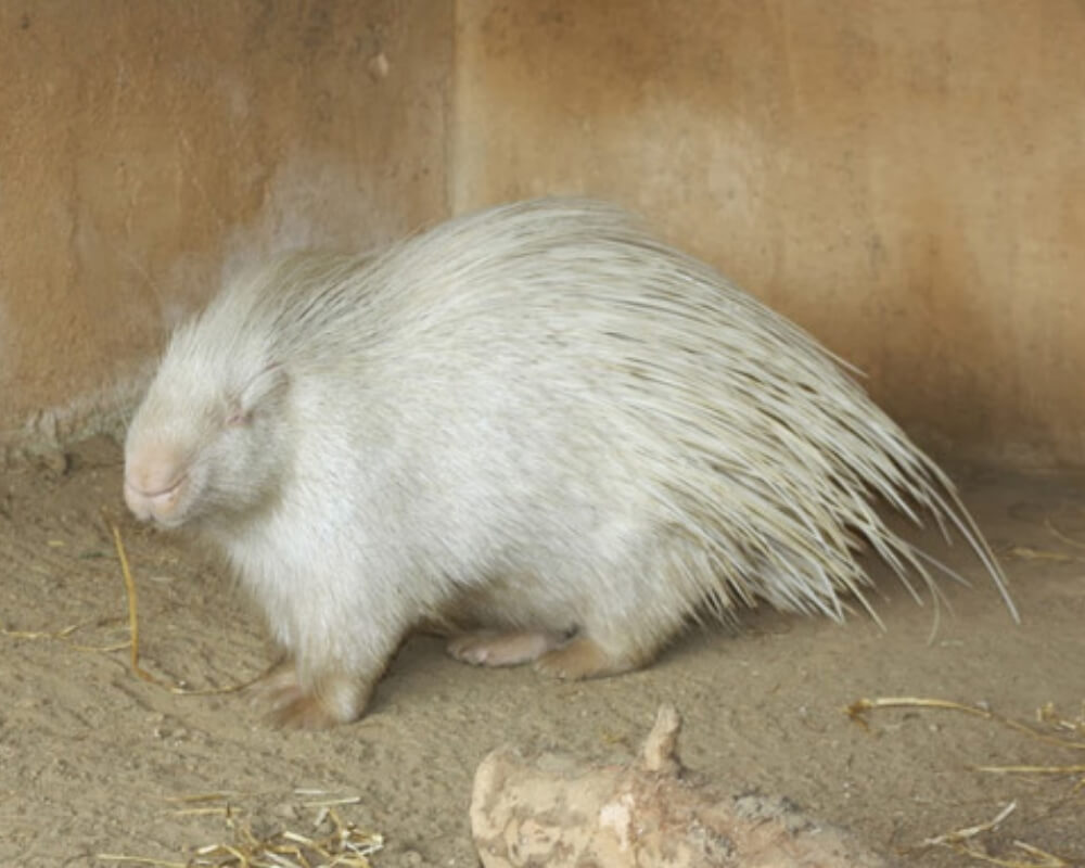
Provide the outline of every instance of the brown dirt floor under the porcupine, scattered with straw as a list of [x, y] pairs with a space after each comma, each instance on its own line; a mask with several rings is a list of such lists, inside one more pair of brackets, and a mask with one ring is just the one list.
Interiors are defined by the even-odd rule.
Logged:
[[[257, 675], [269, 651], [258, 617], [206, 552], [125, 515], [115, 445], [89, 442], [64, 463], [0, 475], [0, 865], [130, 864], [101, 854], [183, 864], [196, 847], [232, 840], [225, 802], [256, 834], [308, 834], [318, 808], [307, 805], [354, 797], [339, 810], [384, 835], [374, 865], [471, 866], [471, 779], [486, 752], [513, 743], [621, 757], [662, 701], [685, 717], [687, 765], [786, 795], [870, 846], [903, 853], [906, 866], [979, 865], [919, 845], [1010, 802], [1016, 810], [973, 845], [1041, 864], [1013, 845], [1021, 841], [1085, 864], [1080, 773], [974, 769], [1081, 768], [1081, 750], [953, 711], [881, 711], [869, 728], [842, 711], [861, 698], [937, 698], [1035, 722], [1054, 703], [1081, 723], [1082, 477], [956, 474], [1011, 576], [1020, 627], [963, 547], [920, 535], [974, 579], [945, 585], [953, 613], [933, 638], [932, 608], [877, 569], [886, 631], [863, 615], [839, 626], [753, 612], [738, 633], [691, 631], [653, 667], [600, 681], [471, 668], [418, 637], [363, 720], [311, 733], [268, 727], [241, 694], [182, 695], [133, 675], [103, 508], [127, 544], [150, 671], [221, 687]], [[184, 801], [208, 794], [221, 797]]]

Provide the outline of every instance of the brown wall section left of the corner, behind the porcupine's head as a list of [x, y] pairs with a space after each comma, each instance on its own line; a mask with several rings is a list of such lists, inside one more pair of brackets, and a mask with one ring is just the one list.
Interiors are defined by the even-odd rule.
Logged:
[[0, 447], [113, 421], [224, 268], [444, 216], [451, 26], [450, 0], [0, 0]]

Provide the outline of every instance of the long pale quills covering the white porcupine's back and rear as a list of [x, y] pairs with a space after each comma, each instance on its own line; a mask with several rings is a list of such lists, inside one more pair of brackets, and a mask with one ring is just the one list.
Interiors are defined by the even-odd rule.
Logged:
[[[707, 556], [676, 564], [688, 614], [762, 598], [839, 618], [842, 592], [866, 604], [860, 540], [906, 583], [932, 584], [932, 560], [888, 528], [878, 497], [962, 534], [1013, 611], [952, 483], [839, 360], [621, 209], [511, 205], [424, 237], [400, 271], [403, 255], [372, 277], [381, 285], [387, 277], [421, 320], [436, 326], [447, 304], [444, 324], [477, 318], [486, 355], [498, 334], [528, 355], [553, 354], [536, 370], [563, 399], [590, 407], [660, 526]], [[397, 285], [399, 273], [426, 269], [426, 290]], [[425, 323], [417, 328], [416, 340], [427, 340]]]

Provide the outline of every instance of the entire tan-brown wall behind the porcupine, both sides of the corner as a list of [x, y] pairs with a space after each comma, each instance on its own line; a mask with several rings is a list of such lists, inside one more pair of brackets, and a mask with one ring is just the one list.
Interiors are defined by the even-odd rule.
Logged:
[[942, 456], [1085, 465], [1085, 4], [0, 0], [0, 447], [224, 270], [616, 199]]

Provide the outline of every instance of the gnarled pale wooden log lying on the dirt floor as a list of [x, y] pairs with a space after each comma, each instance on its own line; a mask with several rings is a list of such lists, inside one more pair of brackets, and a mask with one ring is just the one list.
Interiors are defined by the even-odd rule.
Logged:
[[471, 829], [485, 868], [889, 868], [782, 799], [727, 792], [682, 769], [680, 719], [660, 709], [627, 766], [490, 753], [475, 774]]

